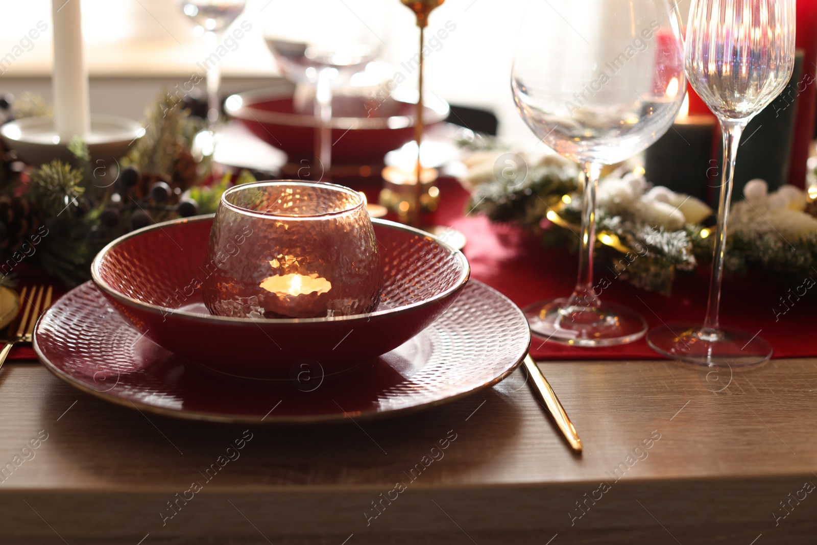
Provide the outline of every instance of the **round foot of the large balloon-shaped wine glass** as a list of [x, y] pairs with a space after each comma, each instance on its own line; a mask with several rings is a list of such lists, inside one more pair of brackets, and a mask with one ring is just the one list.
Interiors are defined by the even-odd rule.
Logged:
[[526, 306], [530, 331], [548, 342], [569, 346], [617, 346], [644, 337], [647, 323], [627, 307], [602, 303], [598, 308], [564, 310], [566, 298]]

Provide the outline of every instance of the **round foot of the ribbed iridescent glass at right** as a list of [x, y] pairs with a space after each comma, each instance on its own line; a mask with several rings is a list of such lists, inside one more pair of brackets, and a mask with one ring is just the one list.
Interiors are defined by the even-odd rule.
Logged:
[[670, 324], [650, 331], [647, 342], [659, 354], [685, 364], [739, 369], [770, 359], [771, 345], [757, 333], [721, 328], [712, 337], [703, 334], [699, 324]]

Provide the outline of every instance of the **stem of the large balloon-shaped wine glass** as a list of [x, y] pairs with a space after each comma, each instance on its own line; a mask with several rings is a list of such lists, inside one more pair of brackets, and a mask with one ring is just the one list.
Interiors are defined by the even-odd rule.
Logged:
[[596, 190], [601, 176], [599, 163], [584, 163], [581, 248], [578, 254], [578, 279], [568, 306], [598, 308], [599, 297], [593, 292], [593, 244], [596, 242]]

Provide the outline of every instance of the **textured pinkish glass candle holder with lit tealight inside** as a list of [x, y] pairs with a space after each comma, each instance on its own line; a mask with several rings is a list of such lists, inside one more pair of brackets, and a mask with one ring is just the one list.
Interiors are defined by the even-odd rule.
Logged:
[[214, 315], [317, 318], [376, 309], [382, 289], [366, 203], [341, 185], [261, 181], [221, 196], [204, 302]]

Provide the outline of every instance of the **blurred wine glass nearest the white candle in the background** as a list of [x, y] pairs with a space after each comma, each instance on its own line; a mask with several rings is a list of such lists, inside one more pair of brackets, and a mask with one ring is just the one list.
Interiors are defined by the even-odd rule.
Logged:
[[244, 11], [246, 0], [176, 0], [185, 16], [194, 21], [195, 34], [204, 38], [208, 57], [202, 64], [207, 69], [207, 119], [217, 123], [221, 112], [218, 87], [221, 86], [221, 57], [216, 52], [224, 30]]

